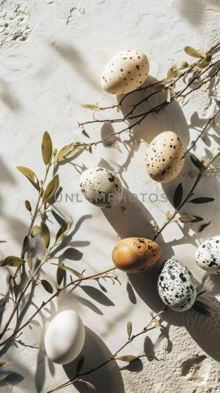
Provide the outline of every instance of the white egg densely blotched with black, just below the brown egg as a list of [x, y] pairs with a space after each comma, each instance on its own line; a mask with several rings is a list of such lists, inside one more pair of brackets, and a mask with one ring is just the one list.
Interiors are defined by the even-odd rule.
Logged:
[[167, 259], [158, 274], [157, 288], [162, 301], [170, 309], [186, 311], [196, 299], [196, 282], [182, 263]]

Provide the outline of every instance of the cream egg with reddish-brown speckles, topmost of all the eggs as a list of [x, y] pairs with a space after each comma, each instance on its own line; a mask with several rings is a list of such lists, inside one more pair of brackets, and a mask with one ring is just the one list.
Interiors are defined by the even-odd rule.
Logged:
[[118, 52], [107, 62], [102, 72], [102, 88], [110, 94], [132, 92], [144, 83], [149, 68], [144, 53], [133, 49]]

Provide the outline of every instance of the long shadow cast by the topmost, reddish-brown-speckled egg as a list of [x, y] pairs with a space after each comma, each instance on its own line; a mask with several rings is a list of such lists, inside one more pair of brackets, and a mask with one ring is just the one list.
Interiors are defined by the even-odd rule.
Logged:
[[[120, 111], [124, 116], [126, 116], [133, 108], [133, 105], [147, 98], [148, 95], [152, 93], [151, 87], [148, 87], [150, 84], [157, 82], [158, 80], [151, 75], [148, 75], [146, 81], [142, 84], [142, 88], [145, 90], [135, 90], [131, 94], [127, 95], [122, 101], [122, 105], [120, 105]], [[123, 98], [123, 95], [117, 95], [118, 103]], [[133, 111], [133, 115], [144, 114], [145, 112], [151, 110], [152, 108], [160, 105], [165, 101], [165, 94], [163, 92], [157, 92], [155, 95], [150, 97], [147, 102], [144, 101]], [[128, 120], [129, 125], [134, 124], [138, 118]], [[129, 140], [124, 141], [126, 145], [128, 155], [126, 162], [121, 165], [118, 173], [121, 175], [123, 170], [126, 171], [131, 160], [131, 157], [134, 155], [134, 152], [137, 150], [137, 141], [138, 139], [144, 140], [148, 145], [151, 141], [158, 136], [161, 132], [165, 131], [173, 131], [182, 140], [185, 148], [189, 145], [190, 136], [189, 136], [189, 127], [187, 125], [187, 121], [184, 116], [184, 112], [178, 103], [178, 101], [174, 100], [169, 105], [166, 105], [162, 108], [158, 113], [148, 114], [147, 117], [141, 121], [139, 125], [135, 125], [132, 129], [132, 133], [129, 134]], [[146, 147], [147, 151], [147, 147]], [[144, 158], [142, 158], [143, 170], [145, 171], [145, 163]], [[189, 166], [191, 165], [191, 160], [186, 156], [184, 163], [184, 173], [188, 171]], [[179, 177], [179, 176], [178, 176]], [[167, 194], [167, 198], [170, 201], [173, 198], [173, 191], [176, 188], [176, 185], [180, 183], [180, 179], [174, 179], [173, 181], [163, 185], [163, 189], [165, 194]]]

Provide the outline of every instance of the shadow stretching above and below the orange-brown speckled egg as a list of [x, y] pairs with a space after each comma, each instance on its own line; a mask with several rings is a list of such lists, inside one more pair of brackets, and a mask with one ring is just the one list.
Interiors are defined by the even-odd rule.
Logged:
[[[135, 198], [134, 194], [126, 188], [124, 188], [125, 195], [126, 201], [121, 200], [114, 208], [102, 209], [105, 218], [109, 221], [120, 239], [126, 237], [153, 239], [154, 231], [149, 224], [154, 219], [153, 216], [145, 208], [144, 204]], [[135, 200], [135, 202], [131, 202], [132, 200]], [[116, 237], [115, 240], [118, 242], [120, 239]], [[162, 236], [158, 239], [158, 244], [162, 249], [160, 262], [145, 272], [127, 274], [129, 283], [135, 289], [136, 293], [153, 310], [164, 308], [164, 303], [160, 299], [157, 290], [157, 275], [165, 259], [171, 258], [174, 255], [171, 243], [166, 243]], [[131, 290], [129, 288], [128, 295], [129, 298], [133, 295], [132, 303], [135, 304], [134, 294], [131, 293]]]

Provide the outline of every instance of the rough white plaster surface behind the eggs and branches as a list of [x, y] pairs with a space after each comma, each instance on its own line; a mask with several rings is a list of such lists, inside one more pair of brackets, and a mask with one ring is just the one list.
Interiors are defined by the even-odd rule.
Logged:
[[[75, 9], [70, 12], [73, 7]], [[34, 205], [36, 191], [15, 166], [30, 167], [39, 178], [43, 177], [40, 151], [43, 132], [47, 130], [54, 146], [60, 148], [71, 141], [96, 141], [100, 135], [111, 131], [108, 125], [102, 129], [100, 125], [87, 126], [89, 139], [82, 130], [76, 129], [76, 121], [91, 118], [91, 112], [83, 109], [80, 103], [99, 101], [103, 106], [116, 103], [116, 97], [104, 94], [99, 83], [102, 69], [110, 57], [119, 50], [139, 49], [150, 61], [148, 81], [152, 77], [165, 77], [174, 62], [188, 60], [180, 51], [185, 45], [208, 49], [217, 42], [219, 13], [218, 0], [85, 0], [78, 4], [70, 0], [22, 0], [19, 5], [14, 0], [1, 1], [0, 238], [7, 243], [0, 245], [0, 257], [20, 255], [29, 227], [24, 201], [28, 199]], [[174, 130], [185, 147], [189, 146], [206, 119], [214, 113], [214, 97], [220, 98], [219, 86], [205, 86], [191, 95], [189, 101], [186, 99], [183, 106], [171, 104], [159, 118], [148, 117], [135, 129], [134, 137], [122, 134], [125, 144], [116, 138], [122, 153], [98, 145], [92, 155], [84, 152], [71, 163], [60, 166], [60, 185], [64, 194], [76, 196], [82, 169], [100, 165], [117, 173], [130, 192], [159, 195], [155, 203], [148, 197], [145, 202], [127, 202], [125, 215], [120, 206], [102, 211], [85, 200], [81, 204], [75, 199], [73, 203], [65, 203], [63, 198], [54, 209], [70, 220], [71, 230], [68, 242], [58, 247], [60, 260], [76, 270], [86, 268], [87, 274], [92, 274], [111, 267], [111, 251], [119, 237], [153, 237], [148, 222], [153, 218], [159, 227], [164, 223], [165, 212], [172, 210], [169, 200], [180, 180], [184, 192], [189, 191], [194, 180], [183, 175], [192, 165], [188, 157], [179, 178], [162, 187], [145, 171], [146, 144], [137, 147], [135, 140], [143, 138], [149, 143], [159, 132]], [[156, 102], [152, 100], [149, 105]], [[123, 113], [129, 103], [131, 101], [125, 101]], [[100, 114], [106, 115], [107, 112]], [[109, 115], [119, 116], [116, 111]], [[117, 125], [114, 128], [120, 129]], [[196, 145], [198, 157], [211, 157], [220, 142], [219, 131], [219, 126], [208, 129], [206, 141]], [[167, 194], [167, 202], [162, 202], [162, 192]], [[184, 226], [173, 223], [158, 237], [158, 244], [163, 251], [161, 261], [175, 256], [195, 275], [198, 289], [205, 287], [208, 290], [204, 298], [215, 308], [213, 318], [205, 319], [194, 310], [179, 314], [166, 312], [161, 329], [140, 336], [122, 351], [140, 355], [140, 361], [131, 365], [111, 362], [88, 377], [99, 393], [219, 391], [219, 277], [203, 272], [194, 261], [198, 244], [219, 234], [217, 177], [202, 179], [195, 196], [202, 195], [213, 196], [216, 201], [209, 206], [185, 206], [182, 213], [202, 216], [204, 222], [212, 220], [209, 228], [199, 234], [196, 231], [200, 223]], [[49, 219], [49, 228], [55, 236], [58, 223], [52, 215]], [[42, 239], [32, 240], [31, 247], [35, 261], [42, 258]], [[132, 320], [133, 332], [138, 332], [149, 320], [149, 310], [162, 308], [156, 290], [160, 264], [139, 275], [118, 272], [121, 286], [118, 283], [113, 286], [110, 280], [103, 281], [104, 290], [96, 281], [85, 281], [74, 290], [62, 292], [24, 329], [21, 342], [1, 349], [0, 360], [13, 361], [11, 375], [0, 382], [1, 391], [40, 393], [74, 375], [76, 362], [64, 367], [55, 365], [44, 352], [45, 329], [57, 311], [65, 308], [75, 309], [87, 327], [84, 369], [107, 359], [126, 340], [127, 320]], [[13, 272], [15, 268], [1, 270], [0, 292], [7, 289], [9, 270]], [[51, 266], [44, 265], [40, 277], [47, 278], [55, 286], [55, 270]], [[26, 278], [23, 273], [22, 279]], [[27, 293], [20, 307], [20, 320], [26, 321], [47, 297], [40, 286]], [[29, 307], [24, 307], [27, 301]], [[3, 321], [12, 306], [12, 301], [6, 304]], [[65, 392], [71, 391], [87, 392], [88, 389], [84, 385], [65, 388]]]

